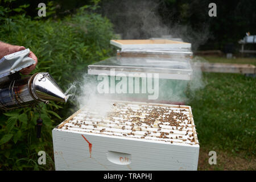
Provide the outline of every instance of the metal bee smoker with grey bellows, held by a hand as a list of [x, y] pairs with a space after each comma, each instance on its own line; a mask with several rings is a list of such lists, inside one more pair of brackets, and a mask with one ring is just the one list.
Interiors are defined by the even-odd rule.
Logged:
[[[47, 72], [21, 78], [19, 71], [35, 61], [28, 57], [30, 49], [4, 56], [0, 60], [0, 109], [10, 110], [35, 106], [39, 102], [66, 102], [67, 96]], [[37, 121], [37, 137], [40, 138], [42, 119]]]

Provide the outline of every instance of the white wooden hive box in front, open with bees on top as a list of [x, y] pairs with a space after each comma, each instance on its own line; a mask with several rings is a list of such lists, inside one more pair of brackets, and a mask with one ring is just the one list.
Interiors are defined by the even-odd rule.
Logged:
[[199, 142], [190, 106], [125, 101], [109, 106], [106, 114], [85, 106], [52, 130], [56, 170], [197, 169]]

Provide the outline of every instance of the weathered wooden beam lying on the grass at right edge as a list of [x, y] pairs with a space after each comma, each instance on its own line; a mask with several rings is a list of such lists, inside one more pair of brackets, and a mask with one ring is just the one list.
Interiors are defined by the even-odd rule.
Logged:
[[256, 67], [252, 64], [230, 64], [230, 63], [195, 63], [194, 67], [200, 67], [203, 72], [213, 73], [242, 73], [255, 74]]

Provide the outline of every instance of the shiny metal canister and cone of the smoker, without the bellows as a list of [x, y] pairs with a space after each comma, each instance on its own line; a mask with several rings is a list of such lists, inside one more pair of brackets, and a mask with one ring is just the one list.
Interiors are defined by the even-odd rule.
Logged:
[[35, 73], [31, 77], [12, 80], [0, 89], [0, 107], [17, 109], [38, 102], [66, 101], [67, 97], [49, 73]]

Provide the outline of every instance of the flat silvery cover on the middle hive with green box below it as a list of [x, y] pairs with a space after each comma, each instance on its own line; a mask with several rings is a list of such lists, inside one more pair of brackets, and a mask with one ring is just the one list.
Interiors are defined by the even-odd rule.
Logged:
[[159, 78], [191, 80], [192, 68], [188, 57], [110, 57], [88, 65], [89, 75], [115, 73], [158, 73]]

